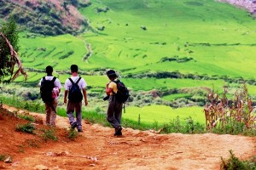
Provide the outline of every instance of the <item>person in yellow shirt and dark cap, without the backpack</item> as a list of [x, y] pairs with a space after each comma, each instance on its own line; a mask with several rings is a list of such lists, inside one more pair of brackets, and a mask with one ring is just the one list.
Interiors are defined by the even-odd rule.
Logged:
[[114, 94], [117, 94], [118, 88], [115, 83], [118, 80], [118, 76], [115, 71], [107, 71], [107, 76], [110, 82], [106, 84], [106, 94], [108, 98], [108, 111], [107, 111], [107, 120], [114, 127], [114, 136], [122, 135], [121, 127], [121, 117], [122, 117], [122, 108], [123, 103], [119, 102]]

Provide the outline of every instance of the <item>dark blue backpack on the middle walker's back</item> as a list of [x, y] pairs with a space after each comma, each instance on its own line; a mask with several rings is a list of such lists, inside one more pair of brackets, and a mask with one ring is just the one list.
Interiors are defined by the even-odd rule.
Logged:
[[68, 78], [70, 82], [72, 82], [71, 88], [69, 88], [68, 91], [68, 100], [71, 102], [80, 102], [83, 99], [83, 94], [81, 93], [81, 89], [79, 88], [79, 81], [81, 80], [81, 77], [79, 77], [79, 80], [77, 82], [73, 82], [71, 78]]

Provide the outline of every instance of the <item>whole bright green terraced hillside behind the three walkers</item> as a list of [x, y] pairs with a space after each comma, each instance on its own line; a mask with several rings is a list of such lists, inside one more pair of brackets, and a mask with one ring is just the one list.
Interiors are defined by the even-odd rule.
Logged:
[[152, 116], [159, 111], [154, 105], [202, 107], [207, 90], [221, 92], [224, 84], [231, 96], [245, 81], [256, 96], [256, 23], [244, 10], [214, 0], [91, 0], [79, 12], [91, 29], [77, 37], [20, 33], [26, 86], [38, 82], [47, 65], [64, 83], [77, 64], [90, 85], [91, 105], [103, 107], [104, 73], [111, 68], [131, 89], [131, 115], [148, 113], [137, 106], [153, 105]]

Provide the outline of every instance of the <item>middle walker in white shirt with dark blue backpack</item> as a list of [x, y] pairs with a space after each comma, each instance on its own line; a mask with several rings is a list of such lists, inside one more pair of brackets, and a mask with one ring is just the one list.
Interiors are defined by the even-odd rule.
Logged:
[[[65, 82], [65, 94], [64, 94], [64, 103], [67, 104], [67, 116], [71, 127], [74, 129], [78, 128], [78, 132], [83, 132], [82, 129], [82, 99], [84, 94], [84, 105], [88, 105], [87, 94], [85, 87], [87, 83], [84, 81], [84, 78], [79, 77], [78, 65], [70, 66], [72, 77], [67, 78]], [[81, 93], [81, 90], [83, 94]], [[68, 94], [68, 102], [67, 102]], [[76, 111], [76, 120], [73, 116], [73, 112]]]

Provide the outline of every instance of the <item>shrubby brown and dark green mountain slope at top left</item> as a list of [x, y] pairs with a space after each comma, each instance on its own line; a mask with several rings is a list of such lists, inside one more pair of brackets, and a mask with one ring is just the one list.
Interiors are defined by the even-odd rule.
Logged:
[[3, 0], [0, 1], [0, 17], [6, 19], [13, 15], [22, 30], [34, 33], [76, 34], [88, 27], [78, 8], [89, 5], [89, 0]]

